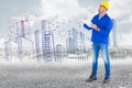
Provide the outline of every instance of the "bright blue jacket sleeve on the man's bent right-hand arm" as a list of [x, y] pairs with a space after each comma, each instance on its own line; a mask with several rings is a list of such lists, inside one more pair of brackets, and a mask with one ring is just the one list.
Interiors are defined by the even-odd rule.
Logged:
[[110, 31], [111, 31], [111, 29], [112, 29], [112, 26], [113, 26], [113, 22], [112, 22], [111, 19], [109, 19], [109, 20], [107, 21], [107, 24], [106, 24], [106, 28], [105, 28], [105, 29], [100, 29], [100, 28], [99, 28], [99, 29], [100, 29], [99, 34], [105, 35], [105, 36], [108, 36], [109, 33], [110, 33]]

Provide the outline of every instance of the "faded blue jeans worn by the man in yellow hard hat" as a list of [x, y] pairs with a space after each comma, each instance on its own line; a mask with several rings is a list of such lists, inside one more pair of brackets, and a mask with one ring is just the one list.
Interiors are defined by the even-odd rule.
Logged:
[[100, 43], [92, 43], [92, 53], [94, 53], [94, 59], [92, 59], [92, 72], [91, 76], [97, 75], [98, 69], [98, 56], [99, 51], [101, 50], [102, 58], [105, 62], [105, 68], [106, 68], [106, 77], [110, 77], [110, 62], [108, 57], [108, 44], [100, 44]]

